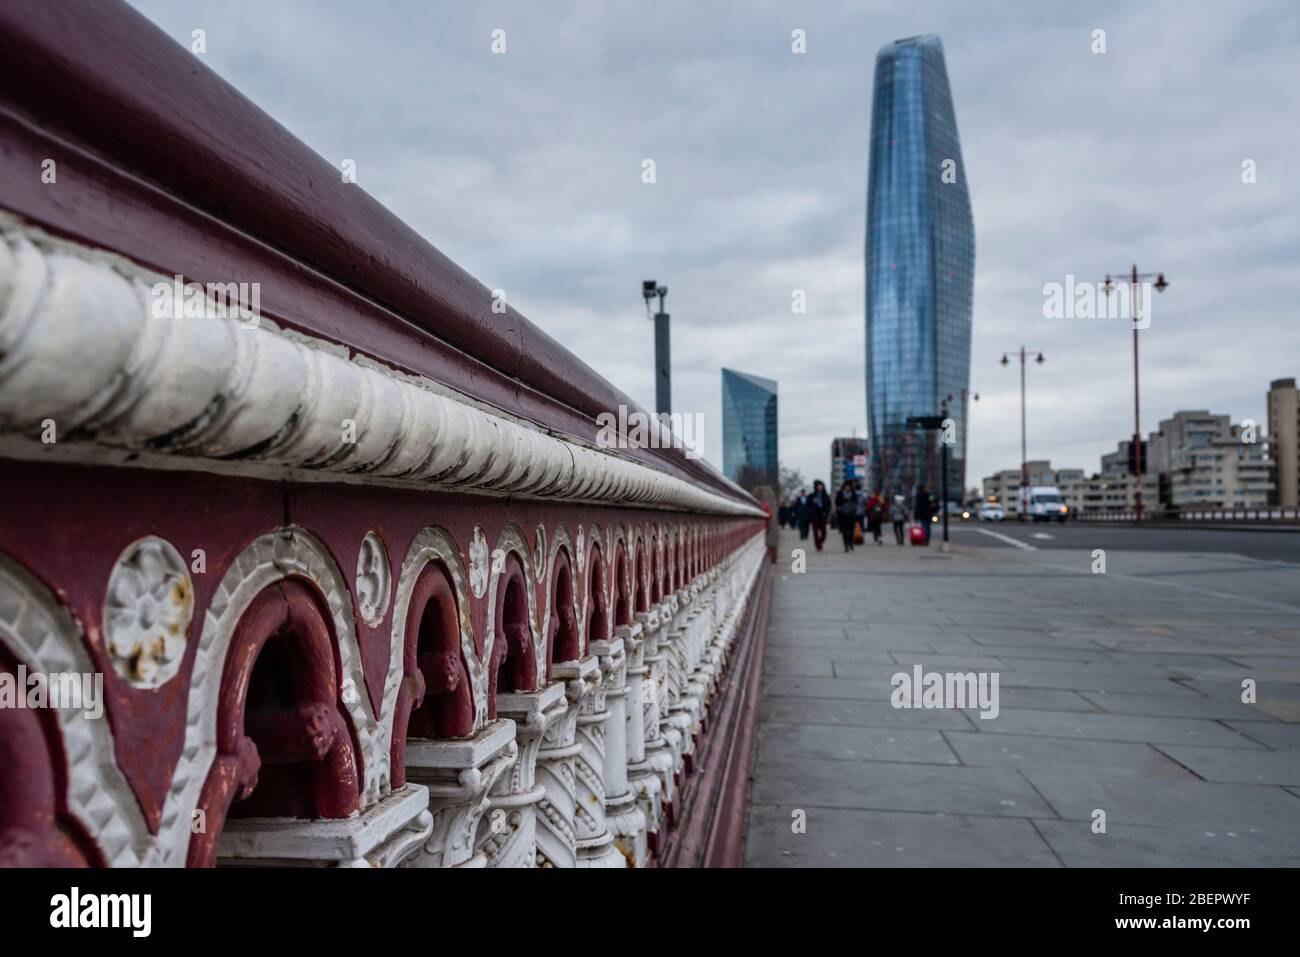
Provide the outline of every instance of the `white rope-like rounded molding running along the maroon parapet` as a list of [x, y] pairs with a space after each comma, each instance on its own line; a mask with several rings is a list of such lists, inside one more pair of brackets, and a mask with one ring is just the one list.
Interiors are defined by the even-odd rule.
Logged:
[[173, 280], [0, 212], [0, 438], [51, 452], [34, 442], [52, 425], [74, 459], [763, 516], [216, 299], [156, 316], [159, 282]]

